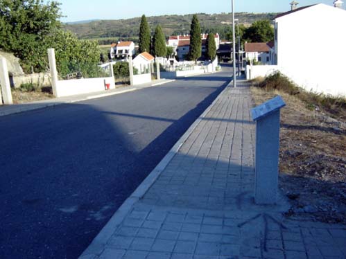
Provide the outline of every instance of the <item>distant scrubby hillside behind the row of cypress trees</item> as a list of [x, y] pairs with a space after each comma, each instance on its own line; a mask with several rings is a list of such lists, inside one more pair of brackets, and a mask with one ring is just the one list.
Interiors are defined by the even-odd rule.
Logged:
[[[241, 24], [250, 26], [254, 21], [260, 19], [273, 19], [276, 13], [249, 13], [239, 12], [236, 13], [236, 18], [239, 19]], [[148, 23], [152, 31], [155, 26], [160, 24], [164, 34], [188, 34], [192, 15], [162, 15], [147, 17]], [[230, 30], [232, 15], [230, 13], [220, 13], [209, 15], [205, 13], [198, 14], [198, 19], [204, 33], [219, 33], [221, 39], [225, 38], [227, 31]], [[118, 19], [118, 20], [96, 20], [89, 22], [77, 22], [64, 24], [66, 30], [71, 30], [80, 39], [92, 38], [129, 38], [138, 37], [139, 24], [141, 18], [136, 17], [132, 19]]]

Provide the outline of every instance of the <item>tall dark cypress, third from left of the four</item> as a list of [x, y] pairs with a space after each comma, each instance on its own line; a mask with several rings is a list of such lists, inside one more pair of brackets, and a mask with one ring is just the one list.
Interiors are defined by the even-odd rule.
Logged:
[[202, 38], [200, 37], [200, 33], [200, 22], [198, 21], [197, 15], [193, 15], [190, 30], [189, 59], [195, 62], [202, 55]]

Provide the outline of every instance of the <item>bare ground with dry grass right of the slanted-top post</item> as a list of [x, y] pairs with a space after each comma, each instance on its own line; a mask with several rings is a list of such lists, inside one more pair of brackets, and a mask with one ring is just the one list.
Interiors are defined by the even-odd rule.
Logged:
[[346, 123], [279, 91], [252, 87], [256, 105], [281, 95], [279, 183], [288, 217], [346, 224]]

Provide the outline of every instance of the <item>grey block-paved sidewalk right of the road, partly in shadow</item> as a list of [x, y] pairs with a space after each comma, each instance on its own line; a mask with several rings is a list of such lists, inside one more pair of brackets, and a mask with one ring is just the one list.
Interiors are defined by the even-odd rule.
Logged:
[[80, 258], [345, 258], [344, 225], [287, 220], [284, 198], [252, 202], [245, 84], [220, 94]]

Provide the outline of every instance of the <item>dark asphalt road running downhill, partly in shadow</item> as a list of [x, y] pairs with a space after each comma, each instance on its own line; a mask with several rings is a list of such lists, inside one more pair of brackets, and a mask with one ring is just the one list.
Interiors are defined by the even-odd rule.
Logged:
[[0, 117], [0, 258], [80, 256], [230, 79]]

